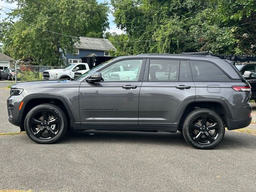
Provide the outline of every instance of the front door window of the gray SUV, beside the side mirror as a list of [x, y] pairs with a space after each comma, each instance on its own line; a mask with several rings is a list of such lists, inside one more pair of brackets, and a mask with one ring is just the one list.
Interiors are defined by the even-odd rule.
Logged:
[[102, 78], [109, 81], [138, 81], [142, 60], [123, 60], [101, 70]]

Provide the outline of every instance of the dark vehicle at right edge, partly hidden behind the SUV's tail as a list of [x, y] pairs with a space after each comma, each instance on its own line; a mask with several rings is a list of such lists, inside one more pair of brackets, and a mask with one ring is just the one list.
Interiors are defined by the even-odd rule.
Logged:
[[256, 63], [248, 63], [248, 64], [236, 63], [235, 66], [236, 68], [238, 68], [240, 73], [244, 76], [246, 81], [252, 87], [251, 99], [256, 102]]

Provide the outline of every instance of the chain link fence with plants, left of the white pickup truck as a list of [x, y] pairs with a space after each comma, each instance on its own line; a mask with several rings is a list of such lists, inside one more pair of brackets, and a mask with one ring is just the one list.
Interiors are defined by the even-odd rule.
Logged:
[[59, 69], [60, 66], [32, 66], [15, 65], [16, 74], [13, 73], [12, 80], [15, 82], [37, 81], [43, 79], [43, 72], [50, 69]]

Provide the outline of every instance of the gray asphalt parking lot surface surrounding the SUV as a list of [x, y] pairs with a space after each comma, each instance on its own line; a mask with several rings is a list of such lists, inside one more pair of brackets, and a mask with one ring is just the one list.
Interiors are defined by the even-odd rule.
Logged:
[[[0, 88], [2, 133], [19, 131], [8, 122], [8, 96]], [[179, 132], [69, 132], [50, 145], [0, 135], [0, 190], [252, 192], [255, 150], [256, 136], [236, 131], [214, 150], [192, 148]]]

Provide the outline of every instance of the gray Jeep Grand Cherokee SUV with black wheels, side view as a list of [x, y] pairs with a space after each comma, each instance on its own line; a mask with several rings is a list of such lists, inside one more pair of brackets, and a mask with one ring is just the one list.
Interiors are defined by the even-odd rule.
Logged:
[[237, 68], [213, 56], [140, 54], [114, 58], [74, 81], [12, 86], [9, 121], [40, 144], [73, 130], [183, 133], [210, 149], [250, 124], [250, 85]]

